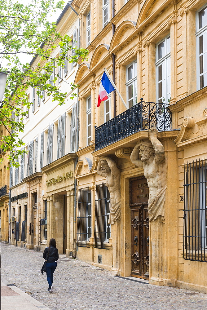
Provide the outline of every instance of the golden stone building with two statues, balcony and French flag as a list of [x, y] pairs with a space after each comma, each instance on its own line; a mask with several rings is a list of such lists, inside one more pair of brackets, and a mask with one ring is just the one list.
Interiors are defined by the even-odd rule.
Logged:
[[[206, 292], [207, 3], [73, 3], [89, 49], [75, 78], [77, 257]], [[97, 107], [104, 68], [128, 109], [113, 92]]]

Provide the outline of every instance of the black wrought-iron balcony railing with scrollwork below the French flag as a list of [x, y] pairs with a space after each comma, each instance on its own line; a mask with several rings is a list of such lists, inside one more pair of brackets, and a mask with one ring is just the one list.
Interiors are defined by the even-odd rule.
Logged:
[[167, 131], [172, 128], [172, 113], [168, 103], [141, 101], [110, 119], [103, 125], [95, 126], [95, 151], [128, 137], [140, 130], [156, 128]]

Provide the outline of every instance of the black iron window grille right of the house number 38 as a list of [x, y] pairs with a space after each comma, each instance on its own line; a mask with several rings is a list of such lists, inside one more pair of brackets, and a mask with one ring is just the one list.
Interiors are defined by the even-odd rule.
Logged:
[[185, 163], [184, 175], [183, 258], [207, 262], [206, 159]]

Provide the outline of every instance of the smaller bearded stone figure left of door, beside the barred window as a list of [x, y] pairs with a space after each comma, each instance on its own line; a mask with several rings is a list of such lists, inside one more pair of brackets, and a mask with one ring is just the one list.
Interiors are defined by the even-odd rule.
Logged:
[[110, 193], [108, 224], [114, 224], [121, 219], [121, 186], [120, 170], [109, 156], [100, 157], [97, 173], [106, 178], [106, 186]]

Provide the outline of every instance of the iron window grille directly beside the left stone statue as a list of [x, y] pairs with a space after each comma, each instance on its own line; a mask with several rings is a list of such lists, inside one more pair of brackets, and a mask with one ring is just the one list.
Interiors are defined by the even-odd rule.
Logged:
[[110, 193], [105, 183], [96, 185], [94, 247], [106, 249], [106, 241], [111, 237], [108, 224]]

